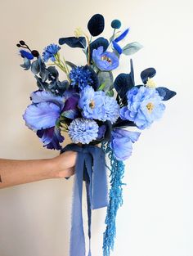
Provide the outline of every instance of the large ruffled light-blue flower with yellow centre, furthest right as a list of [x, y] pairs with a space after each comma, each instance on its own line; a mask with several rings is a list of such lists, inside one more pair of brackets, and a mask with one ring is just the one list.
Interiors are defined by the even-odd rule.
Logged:
[[163, 98], [155, 88], [134, 87], [128, 91], [127, 97], [128, 106], [120, 110], [120, 117], [134, 122], [140, 129], [148, 128], [164, 113]]

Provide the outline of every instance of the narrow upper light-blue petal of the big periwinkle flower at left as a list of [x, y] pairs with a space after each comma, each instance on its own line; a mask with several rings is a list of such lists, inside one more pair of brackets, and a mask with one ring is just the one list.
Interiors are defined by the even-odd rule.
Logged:
[[64, 97], [55, 96], [51, 92], [36, 91], [36, 92], [32, 92], [30, 97], [33, 103], [50, 101], [55, 103], [58, 106], [61, 106], [61, 108], [63, 108], [65, 105]]

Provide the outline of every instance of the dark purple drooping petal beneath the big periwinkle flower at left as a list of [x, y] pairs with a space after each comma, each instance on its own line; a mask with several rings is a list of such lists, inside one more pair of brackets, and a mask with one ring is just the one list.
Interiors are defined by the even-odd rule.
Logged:
[[37, 131], [38, 137], [43, 141], [43, 146], [47, 149], [61, 150], [60, 143], [64, 141], [64, 137], [61, 136], [61, 130], [56, 127], [42, 129]]

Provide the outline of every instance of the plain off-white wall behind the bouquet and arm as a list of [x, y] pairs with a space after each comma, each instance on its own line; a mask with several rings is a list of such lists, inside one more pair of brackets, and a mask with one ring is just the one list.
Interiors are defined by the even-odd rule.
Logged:
[[[192, 8], [188, 0], [1, 1], [0, 157], [39, 159], [58, 152], [42, 148], [21, 117], [36, 89], [33, 75], [20, 69], [16, 43], [39, 50], [70, 36], [99, 12], [131, 27], [129, 40], [144, 45], [133, 56], [136, 80], [154, 66], [160, 86], [177, 91], [164, 118], [146, 130], [127, 162], [124, 204], [119, 210], [112, 256], [193, 255]], [[79, 50], [66, 59], [83, 63]], [[120, 70], [127, 72], [128, 59]], [[73, 179], [49, 180], [0, 191], [0, 256], [68, 256]], [[84, 204], [84, 208], [85, 208]], [[105, 209], [93, 213], [92, 252], [101, 256]]]

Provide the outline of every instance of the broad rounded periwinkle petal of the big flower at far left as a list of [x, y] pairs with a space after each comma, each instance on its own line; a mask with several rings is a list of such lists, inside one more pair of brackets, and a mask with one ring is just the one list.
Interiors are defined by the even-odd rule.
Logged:
[[23, 118], [25, 124], [33, 129], [40, 130], [55, 126], [56, 119], [61, 114], [61, 107], [52, 102], [40, 102], [27, 107]]

